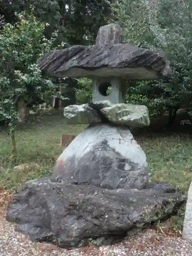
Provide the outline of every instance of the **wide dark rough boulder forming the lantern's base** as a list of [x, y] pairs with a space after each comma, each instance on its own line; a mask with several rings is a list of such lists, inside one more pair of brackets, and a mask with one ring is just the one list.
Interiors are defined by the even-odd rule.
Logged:
[[185, 197], [164, 187], [156, 184], [141, 190], [109, 190], [41, 178], [18, 189], [6, 219], [17, 223], [17, 231], [28, 234], [33, 241], [65, 248], [110, 244], [180, 207]]

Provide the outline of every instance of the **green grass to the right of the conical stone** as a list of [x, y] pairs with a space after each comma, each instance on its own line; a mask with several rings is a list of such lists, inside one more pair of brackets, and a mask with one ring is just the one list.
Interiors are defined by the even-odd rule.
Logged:
[[[160, 137], [156, 134], [138, 136], [155, 181], [167, 182], [187, 194], [192, 181], [192, 141], [189, 135]], [[169, 221], [176, 233], [182, 233], [185, 207]]]

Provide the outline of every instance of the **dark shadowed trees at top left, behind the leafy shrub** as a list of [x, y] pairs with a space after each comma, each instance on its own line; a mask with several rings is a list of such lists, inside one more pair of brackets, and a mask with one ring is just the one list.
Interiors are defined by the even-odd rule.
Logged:
[[57, 30], [59, 43], [64, 39], [71, 45], [94, 42], [99, 27], [108, 23], [111, 15], [110, 1], [105, 0], [0, 0], [0, 6], [0, 14], [9, 23], [16, 22], [15, 12], [29, 13], [33, 6], [35, 17], [50, 25], [46, 37]]

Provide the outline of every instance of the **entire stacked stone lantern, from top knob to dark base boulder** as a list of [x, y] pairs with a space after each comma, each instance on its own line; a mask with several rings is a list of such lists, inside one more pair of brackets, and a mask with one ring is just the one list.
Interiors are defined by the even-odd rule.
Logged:
[[[99, 29], [95, 46], [52, 51], [40, 60], [54, 76], [94, 80], [93, 102], [71, 105], [70, 124], [89, 124], [57, 159], [51, 177], [24, 183], [7, 220], [35, 241], [60, 247], [110, 244], [169, 217], [185, 196], [166, 183], [151, 184], [146, 156], [129, 127], [150, 124], [146, 106], [124, 103], [125, 80], [167, 77], [157, 52], [121, 44], [121, 29]], [[111, 86], [110, 95], [106, 95]]]

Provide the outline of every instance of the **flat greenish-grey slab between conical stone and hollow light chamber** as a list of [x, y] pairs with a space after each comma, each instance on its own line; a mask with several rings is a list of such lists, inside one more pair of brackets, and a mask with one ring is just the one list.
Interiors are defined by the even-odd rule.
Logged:
[[146, 106], [112, 104], [109, 100], [67, 106], [64, 116], [68, 124], [116, 123], [129, 127], [150, 125]]

